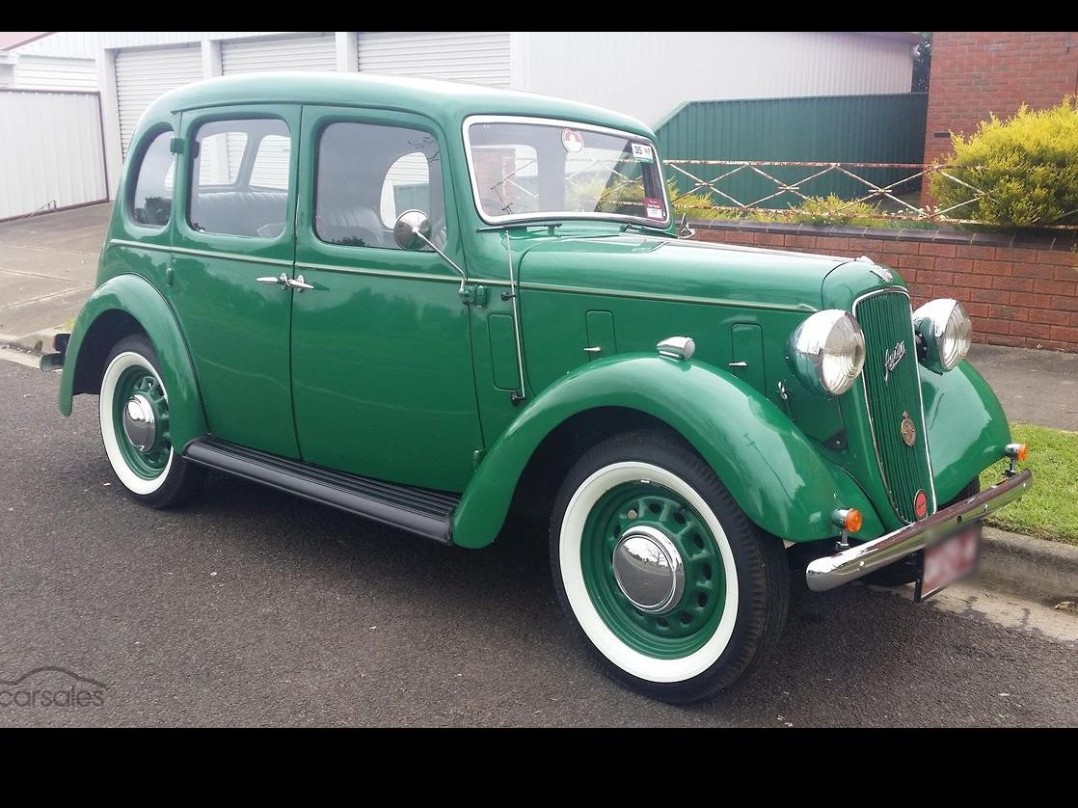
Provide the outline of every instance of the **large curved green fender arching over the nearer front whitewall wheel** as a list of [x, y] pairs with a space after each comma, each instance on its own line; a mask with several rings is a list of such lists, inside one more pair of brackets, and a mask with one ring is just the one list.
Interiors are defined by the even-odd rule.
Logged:
[[872, 505], [845, 474], [816, 451], [771, 401], [710, 365], [654, 354], [592, 362], [537, 395], [490, 447], [454, 514], [453, 541], [494, 541], [525, 466], [558, 424], [597, 407], [646, 413], [685, 437], [711, 465], [748, 517], [789, 541], [835, 535], [837, 507], [857, 507], [857, 535], [883, 531]]

